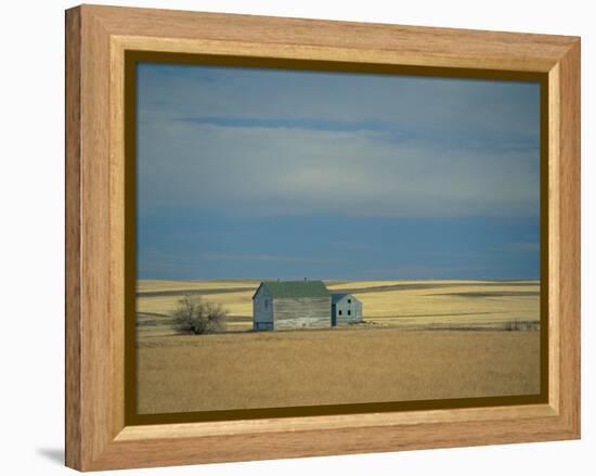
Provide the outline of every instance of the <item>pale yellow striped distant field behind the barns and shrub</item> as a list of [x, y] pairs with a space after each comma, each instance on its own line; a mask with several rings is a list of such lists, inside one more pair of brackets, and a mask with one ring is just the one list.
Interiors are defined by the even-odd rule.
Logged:
[[[139, 336], [171, 335], [170, 313], [183, 294], [202, 295], [229, 311], [228, 330], [251, 329], [252, 294], [259, 281], [139, 281]], [[367, 326], [401, 329], [503, 329], [518, 321], [537, 327], [537, 281], [329, 282], [363, 303]]]

